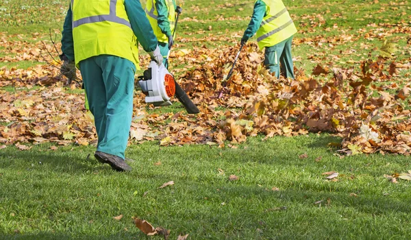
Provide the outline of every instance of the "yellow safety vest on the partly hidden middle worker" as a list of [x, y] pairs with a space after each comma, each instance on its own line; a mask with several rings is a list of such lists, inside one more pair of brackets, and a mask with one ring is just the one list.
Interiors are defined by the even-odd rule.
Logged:
[[[155, 1], [156, 0], [147, 0], [145, 12], [147, 15], [147, 19], [150, 21], [151, 27], [153, 27], [153, 32], [157, 37], [158, 41], [161, 43], [169, 43], [169, 38], [167, 38], [166, 34], [161, 32], [160, 27], [158, 27], [157, 18], [158, 12], [157, 8], [155, 8]], [[170, 23], [170, 31], [173, 34], [174, 31], [174, 23], [175, 23], [175, 9], [173, 0], [164, 0], [166, 2], [167, 10], [169, 12], [169, 23]]]

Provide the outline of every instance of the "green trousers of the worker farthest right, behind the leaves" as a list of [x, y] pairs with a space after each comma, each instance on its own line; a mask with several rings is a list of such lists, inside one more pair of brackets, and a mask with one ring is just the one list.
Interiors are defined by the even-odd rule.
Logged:
[[275, 73], [279, 78], [279, 74], [284, 77], [294, 79], [294, 66], [291, 56], [292, 36], [281, 43], [274, 46], [266, 47], [264, 53], [264, 66], [270, 70], [270, 73]]

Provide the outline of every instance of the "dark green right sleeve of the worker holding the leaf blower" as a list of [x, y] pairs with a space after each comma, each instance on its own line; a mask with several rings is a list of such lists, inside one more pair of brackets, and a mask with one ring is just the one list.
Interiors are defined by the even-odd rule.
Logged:
[[153, 28], [149, 19], [142, 10], [141, 3], [138, 0], [125, 0], [125, 12], [129, 18], [130, 24], [138, 42], [144, 51], [154, 51], [158, 45], [157, 38], [154, 35]]

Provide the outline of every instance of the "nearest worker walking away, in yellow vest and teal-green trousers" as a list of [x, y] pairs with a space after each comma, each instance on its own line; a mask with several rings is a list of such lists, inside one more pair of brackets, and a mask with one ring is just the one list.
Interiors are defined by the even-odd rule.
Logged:
[[98, 142], [95, 158], [129, 171], [125, 149], [133, 113], [138, 43], [162, 64], [153, 29], [140, 1], [71, 0], [62, 31], [62, 74], [82, 73]]

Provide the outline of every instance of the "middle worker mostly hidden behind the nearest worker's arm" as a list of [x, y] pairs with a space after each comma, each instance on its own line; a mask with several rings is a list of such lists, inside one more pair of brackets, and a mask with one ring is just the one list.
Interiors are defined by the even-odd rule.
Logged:
[[167, 58], [174, 45], [175, 13], [180, 14], [182, 8], [176, 5], [175, 0], [147, 0], [145, 12], [157, 36], [164, 66], [168, 69]]

